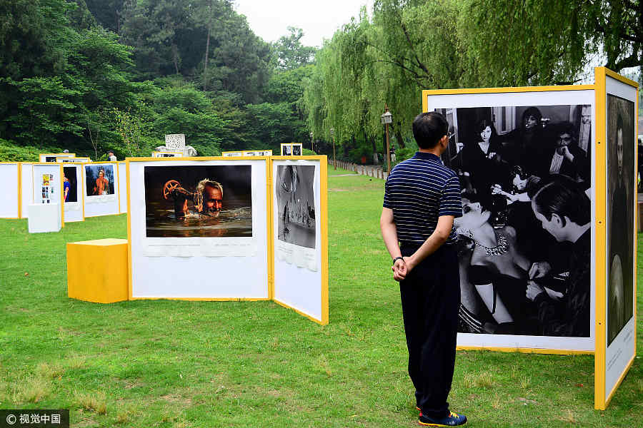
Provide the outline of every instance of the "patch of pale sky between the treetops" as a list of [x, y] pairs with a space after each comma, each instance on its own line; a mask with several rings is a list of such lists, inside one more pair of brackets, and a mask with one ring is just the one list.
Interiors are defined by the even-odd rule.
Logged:
[[264, 41], [276, 41], [294, 26], [304, 30], [302, 44], [321, 46], [367, 4], [370, 9], [372, 0], [236, 0], [234, 9], [246, 16], [254, 34]]

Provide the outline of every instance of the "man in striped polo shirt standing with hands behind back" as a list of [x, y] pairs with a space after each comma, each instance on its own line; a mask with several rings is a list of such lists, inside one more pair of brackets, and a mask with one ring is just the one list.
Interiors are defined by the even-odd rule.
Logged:
[[453, 219], [462, 215], [460, 184], [439, 156], [447, 149], [447, 120], [422, 113], [413, 121], [419, 151], [387, 178], [382, 237], [399, 281], [409, 376], [419, 423], [452, 427], [467, 417], [449, 411], [460, 305]]

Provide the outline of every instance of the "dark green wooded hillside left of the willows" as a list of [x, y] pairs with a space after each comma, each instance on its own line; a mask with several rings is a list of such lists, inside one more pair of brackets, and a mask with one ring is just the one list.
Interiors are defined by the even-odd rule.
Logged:
[[308, 141], [314, 49], [295, 28], [262, 41], [232, 6], [0, 0], [1, 159], [149, 156], [166, 133], [203, 156]]

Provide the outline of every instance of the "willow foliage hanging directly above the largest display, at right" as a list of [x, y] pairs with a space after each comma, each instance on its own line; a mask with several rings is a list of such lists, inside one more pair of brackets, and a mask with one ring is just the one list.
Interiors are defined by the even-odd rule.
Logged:
[[458, 36], [467, 86], [571, 83], [592, 60], [614, 71], [642, 65], [643, 4], [464, 0]]

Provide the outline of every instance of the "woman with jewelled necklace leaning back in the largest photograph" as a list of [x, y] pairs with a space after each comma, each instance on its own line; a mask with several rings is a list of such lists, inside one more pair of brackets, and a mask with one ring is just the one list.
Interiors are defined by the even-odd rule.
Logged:
[[[467, 332], [510, 334], [527, 315], [529, 260], [517, 250], [514, 228], [494, 229], [492, 212], [478, 202], [463, 198], [462, 205], [464, 215], [454, 220], [461, 249], [461, 320]], [[493, 322], [483, 321], [484, 308]]]

